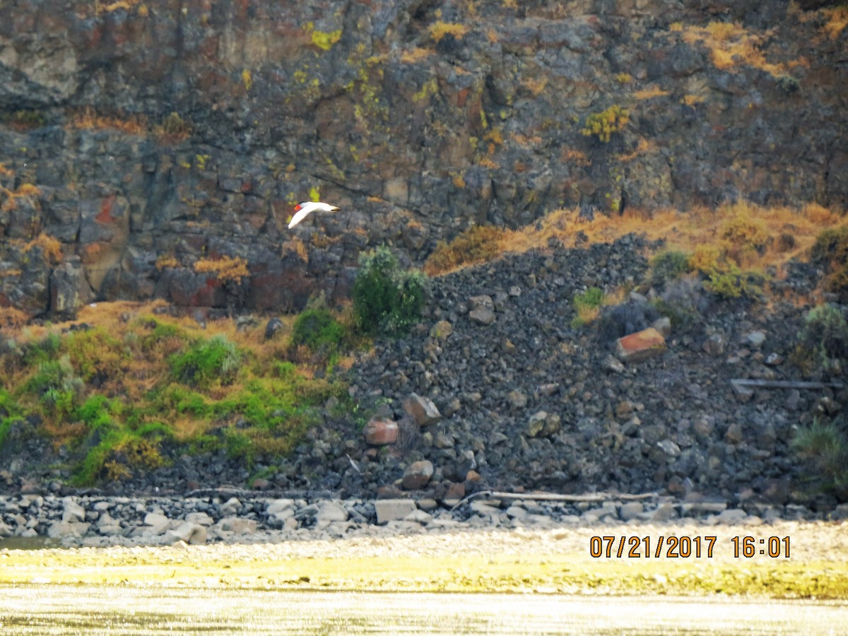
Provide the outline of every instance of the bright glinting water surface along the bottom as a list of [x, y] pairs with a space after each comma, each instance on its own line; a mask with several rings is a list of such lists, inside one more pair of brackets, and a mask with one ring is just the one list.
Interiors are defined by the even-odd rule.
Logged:
[[31, 583], [0, 587], [0, 633], [837, 634], [836, 602], [291, 592]]

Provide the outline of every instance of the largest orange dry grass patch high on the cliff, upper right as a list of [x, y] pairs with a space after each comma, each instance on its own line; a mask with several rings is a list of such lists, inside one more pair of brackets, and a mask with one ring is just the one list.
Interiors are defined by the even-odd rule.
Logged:
[[771, 35], [770, 31], [751, 33], [743, 26], [730, 22], [711, 22], [705, 27], [687, 27], [683, 31], [683, 41], [706, 44], [710, 48], [712, 63], [718, 69], [731, 70], [739, 64], [748, 64], [772, 75], [783, 75], [788, 66], [768, 62], [760, 48]]

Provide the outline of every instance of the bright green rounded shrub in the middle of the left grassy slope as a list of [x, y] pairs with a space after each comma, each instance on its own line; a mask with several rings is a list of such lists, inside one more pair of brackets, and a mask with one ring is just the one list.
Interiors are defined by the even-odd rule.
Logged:
[[196, 388], [207, 388], [215, 380], [231, 384], [242, 356], [226, 336], [198, 340], [187, 351], [170, 357], [170, 368], [178, 382]]

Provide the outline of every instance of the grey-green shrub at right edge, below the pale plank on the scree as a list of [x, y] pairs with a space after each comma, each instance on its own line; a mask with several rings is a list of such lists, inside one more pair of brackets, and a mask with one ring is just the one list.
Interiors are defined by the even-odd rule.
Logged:
[[810, 467], [812, 483], [848, 499], [848, 430], [844, 420], [813, 420], [795, 432], [791, 445]]

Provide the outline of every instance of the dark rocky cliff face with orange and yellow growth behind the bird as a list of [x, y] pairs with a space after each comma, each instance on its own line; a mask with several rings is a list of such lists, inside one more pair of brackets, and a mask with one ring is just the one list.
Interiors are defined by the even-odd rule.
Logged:
[[[0, 306], [296, 309], [471, 223], [845, 207], [820, 4], [3, 0]], [[289, 232], [310, 196], [342, 211]]]

